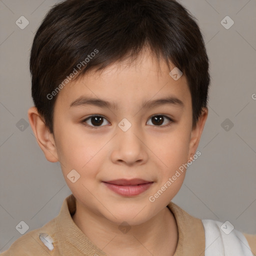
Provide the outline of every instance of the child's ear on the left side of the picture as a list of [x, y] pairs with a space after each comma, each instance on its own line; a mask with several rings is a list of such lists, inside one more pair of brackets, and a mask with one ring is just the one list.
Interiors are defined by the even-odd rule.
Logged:
[[27, 113], [37, 143], [44, 152], [46, 159], [50, 162], [57, 162], [58, 157], [53, 134], [46, 127], [36, 107], [30, 107]]

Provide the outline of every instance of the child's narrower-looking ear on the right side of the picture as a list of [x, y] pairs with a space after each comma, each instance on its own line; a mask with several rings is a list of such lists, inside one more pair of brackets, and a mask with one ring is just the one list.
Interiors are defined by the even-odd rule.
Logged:
[[[188, 157], [192, 157], [195, 154], [195, 150], [199, 144], [200, 137], [201, 137], [202, 130], [203, 130], [205, 121], [207, 119], [207, 116], [208, 116], [208, 108], [205, 107], [202, 109], [201, 115], [198, 118], [198, 121], [195, 127], [192, 128], [190, 142], [189, 142]], [[187, 160], [190, 160], [190, 158]]]

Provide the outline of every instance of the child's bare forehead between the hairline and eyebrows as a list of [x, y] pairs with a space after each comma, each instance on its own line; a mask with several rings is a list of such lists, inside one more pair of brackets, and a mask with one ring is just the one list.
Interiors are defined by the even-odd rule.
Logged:
[[119, 108], [122, 104], [141, 105], [141, 101], [172, 96], [191, 104], [185, 76], [174, 80], [169, 72], [175, 66], [169, 65], [170, 69], [164, 60], [157, 61], [144, 51], [133, 62], [113, 63], [99, 71], [92, 69], [70, 81], [58, 93], [56, 101], [70, 107], [84, 96], [114, 101], [115, 108]]

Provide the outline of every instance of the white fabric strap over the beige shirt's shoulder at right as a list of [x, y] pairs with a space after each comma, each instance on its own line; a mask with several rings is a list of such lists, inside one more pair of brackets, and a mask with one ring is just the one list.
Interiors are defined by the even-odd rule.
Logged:
[[253, 256], [245, 236], [229, 221], [201, 221], [205, 234], [205, 256]]

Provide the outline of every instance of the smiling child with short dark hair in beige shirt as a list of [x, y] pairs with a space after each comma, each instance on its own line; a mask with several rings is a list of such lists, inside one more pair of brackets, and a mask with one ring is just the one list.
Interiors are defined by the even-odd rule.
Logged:
[[72, 194], [2, 256], [256, 253], [256, 235], [170, 202], [200, 154], [210, 83], [200, 29], [182, 5], [56, 4], [34, 37], [30, 71], [30, 125]]

